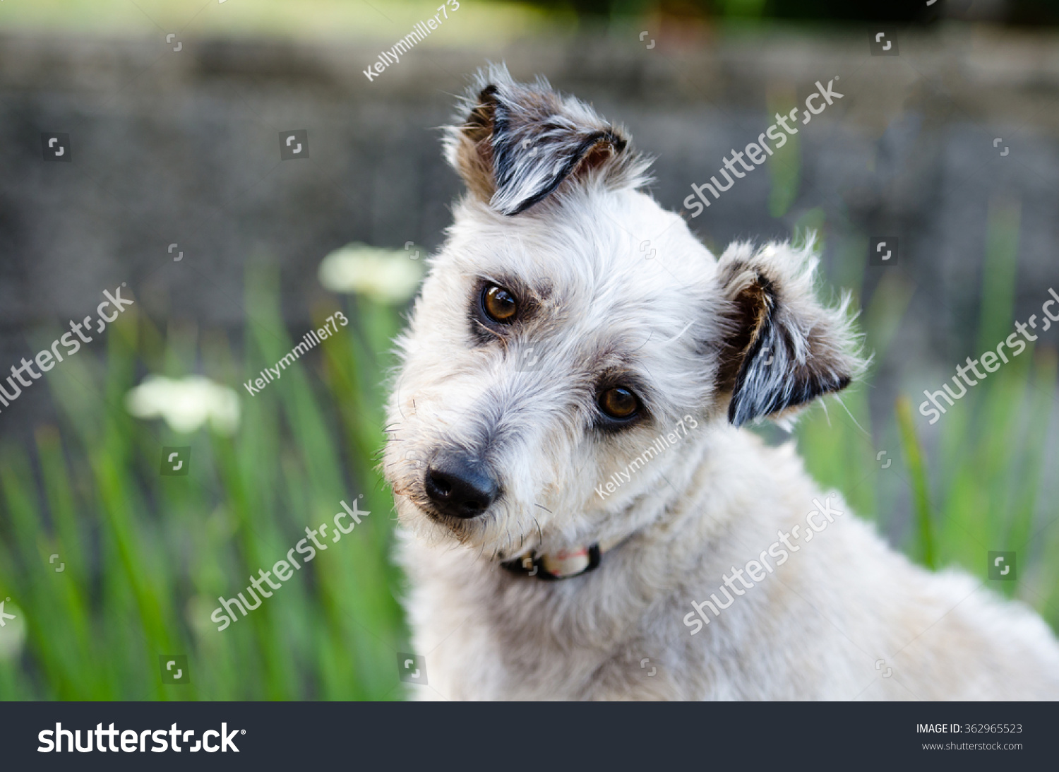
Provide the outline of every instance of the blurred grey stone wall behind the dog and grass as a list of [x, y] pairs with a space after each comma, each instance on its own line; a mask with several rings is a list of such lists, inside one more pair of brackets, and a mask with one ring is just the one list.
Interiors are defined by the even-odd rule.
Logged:
[[[624, 123], [675, 209], [774, 122], [766, 105], [837, 77], [842, 100], [798, 125], [789, 209], [770, 214], [777, 169], [759, 168], [692, 226], [722, 248], [822, 221], [834, 281], [869, 298], [899, 271], [914, 289], [882, 380], [948, 377], [972, 353], [990, 202], [1020, 212], [1017, 318], [1059, 288], [1059, 39], [936, 28], [874, 56], [868, 37], [424, 48], [369, 82], [378, 49], [363, 46], [0, 36], [0, 369], [31, 354], [26, 333], [92, 312], [122, 282], [159, 320], [236, 331], [248, 261], [281, 266], [285, 313], [304, 324], [331, 249], [435, 248], [460, 190], [436, 127], [488, 56]], [[306, 159], [281, 160], [290, 129], [307, 132]], [[69, 134], [70, 162], [43, 160], [46, 132]], [[864, 267], [875, 235], [899, 237], [897, 266]], [[0, 431], [44, 409], [36, 391]]]

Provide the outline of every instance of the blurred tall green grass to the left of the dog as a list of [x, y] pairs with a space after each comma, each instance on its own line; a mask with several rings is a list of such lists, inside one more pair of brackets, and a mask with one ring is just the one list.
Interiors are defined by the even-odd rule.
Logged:
[[[353, 323], [316, 356], [241, 395], [233, 437], [177, 435], [125, 413], [145, 371], [197, 366], [237, 387], [291, 348], [274, 275], [251, 273], [248, 287], [247, 364], [222, 336], [175, 327], [163, 337], [129, 309], [106, 334], [105, 370], [82, 354], [49, 374], [59, 426], [40, 427], [35, 447], [0, 449], [0, 591], [26, 632], [20, 656], [0, 658], [3, 699], [400, 697], [392, 501], [372, 460], [396, 312], [347, 308]], [[322, 325], [335, 309], [317, 310]], [[159, 474], [163, 445], [192, 446], [187, 477]], [[358, 493], [371, 516], [217, 631], [218, 596], [245, 592], [251, 574]], [[189, 656], [191, 685], [161, 684], [163, 653]]]

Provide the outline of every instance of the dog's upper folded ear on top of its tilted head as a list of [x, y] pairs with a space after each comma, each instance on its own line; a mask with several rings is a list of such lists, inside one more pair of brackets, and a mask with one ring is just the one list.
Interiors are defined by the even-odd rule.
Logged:
[[517, 215], [564, 180], [639, 187], [649, 161], [629, 147], [624, 129], [538, 78], [528, 86], [507, 69], [479, 73], [469, 112], [448, 127], [446, 157], [468, 190], [504, 215]]

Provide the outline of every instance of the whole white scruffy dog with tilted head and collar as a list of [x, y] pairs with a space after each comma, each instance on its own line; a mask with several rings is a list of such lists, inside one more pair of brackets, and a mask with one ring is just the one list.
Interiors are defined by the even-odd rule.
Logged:
[[468, 195], [384, 455], [420, 696], [1059, 698], [1037, 615], [911, 564], [740, 428], [859, 373], [811, 247], [715, 257], [621, 127], [500, 67], [446, 149]]

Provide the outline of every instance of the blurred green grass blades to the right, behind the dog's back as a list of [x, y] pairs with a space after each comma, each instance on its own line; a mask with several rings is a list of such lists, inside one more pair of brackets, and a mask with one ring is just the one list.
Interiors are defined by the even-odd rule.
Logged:
[[[1015, 331], [1019, 219], [1017, 202], [991, 202], [975, 355]], [[840, 255], [836, 283], [857, 287], [863, 281], [866, 239], [863, 249], [859, 241], [856, 247]], [[891, 353], [913, 293], [899, 271], [884, 270], [861, 317], [876, 366]], [[932, 569], [962, 567], [1035, 607], [1059, 629], [1059, 480], [1043, 473], [1055, 419], [1057, 357], [1044, 343], [1042, 338], [1028, 344], [969, 388], [935, 428], [913, 410], [921, 392], [902, 394], [885, 420], [873, 426], [868, 387], [858, 385], [842, 396], [845, 408], [831, 400], [826, 412], [810, 411], [796, 436], [813, 477], [841, 490], [883, 533], [899, 532], [899, 545], [911, 558]], [[932, 389], [939, 389], [968, 353], [953, 352]], [[872, 382], [870, 373], [866, 380]], [[923, 447], [928, 435], [930, 453]], [[882, 449], [886, 455], [879, 457]], [[900, 528], [893, 513], [902, 500], [912, 520]], [[1018, 554], [1018, 579], [988, 580], [987, 553], [1011, 550]]]

